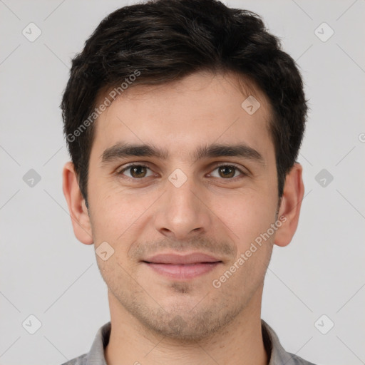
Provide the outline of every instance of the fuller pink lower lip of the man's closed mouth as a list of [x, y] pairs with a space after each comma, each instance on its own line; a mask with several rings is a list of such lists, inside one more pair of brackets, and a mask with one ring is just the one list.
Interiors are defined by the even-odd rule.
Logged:
[[153, 264], [145, 262], [148, 266], [158, 272], [172, 279], [193, 279], [202, 274], [212, 271], [221, 262], [205, 262], [199, 264]]

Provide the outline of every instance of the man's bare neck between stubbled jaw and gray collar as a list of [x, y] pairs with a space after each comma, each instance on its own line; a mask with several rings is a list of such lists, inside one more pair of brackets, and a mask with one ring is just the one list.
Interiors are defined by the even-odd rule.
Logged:
[[109, 292], [111, 332], [104, 350], [108, 365], [267, 365], [261, 329], [262, 291], [226, 327], [199, 341], [156, 334]]

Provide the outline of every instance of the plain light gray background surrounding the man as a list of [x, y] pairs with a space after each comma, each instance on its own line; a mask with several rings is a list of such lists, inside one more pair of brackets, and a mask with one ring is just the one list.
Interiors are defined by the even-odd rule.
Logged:
[[[68, 154], [58, 106], [71, 58], [104, 16], [128, 3], [0, 0], [0, 364], [61, 364], [87, 352], [110, 319], [94, 248], [74, 237], [63, 197]], [[311, 108], [299, 227], [288, 247], [274, 248], [262, 318], [304, 359], [365, 364], [365, 1], [225, 4], [256, 11], [282, 38]], [[31, 22], [42, 32], [34, 42], [22, 34]], [[323, 22], [334, 31], [326, 41]], [[41, 177], [33, 187], [23, 180], [31, 169]], [[31, 314], [41, 322], [35, 334]]]

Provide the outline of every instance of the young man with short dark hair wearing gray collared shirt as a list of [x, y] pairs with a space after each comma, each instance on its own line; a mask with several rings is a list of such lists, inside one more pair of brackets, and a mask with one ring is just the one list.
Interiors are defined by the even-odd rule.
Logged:
[[310, 364], [260, 318], [304, 195], [302, 78], [259, 16], [158, 0], [104, 19], [62, 101], [63, 192], [110, 322], [66, 364]]

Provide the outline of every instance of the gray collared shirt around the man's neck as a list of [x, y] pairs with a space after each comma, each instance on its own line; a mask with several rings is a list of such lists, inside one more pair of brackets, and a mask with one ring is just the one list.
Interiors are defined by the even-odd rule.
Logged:
[[[267, 354], [271, 354], [268, 365], [314, 365], [312, 362], [305, 361], [299, 356], [285, 351], [279, 342], [277, 334], [269, 325], [261, 320], [262, 337]], [[108, 345], [111, 323], [103, 325], [96, 334], [88, 354], [83, 354], [62, 365], [107, 365], [104, 356], [104, 348]]]

